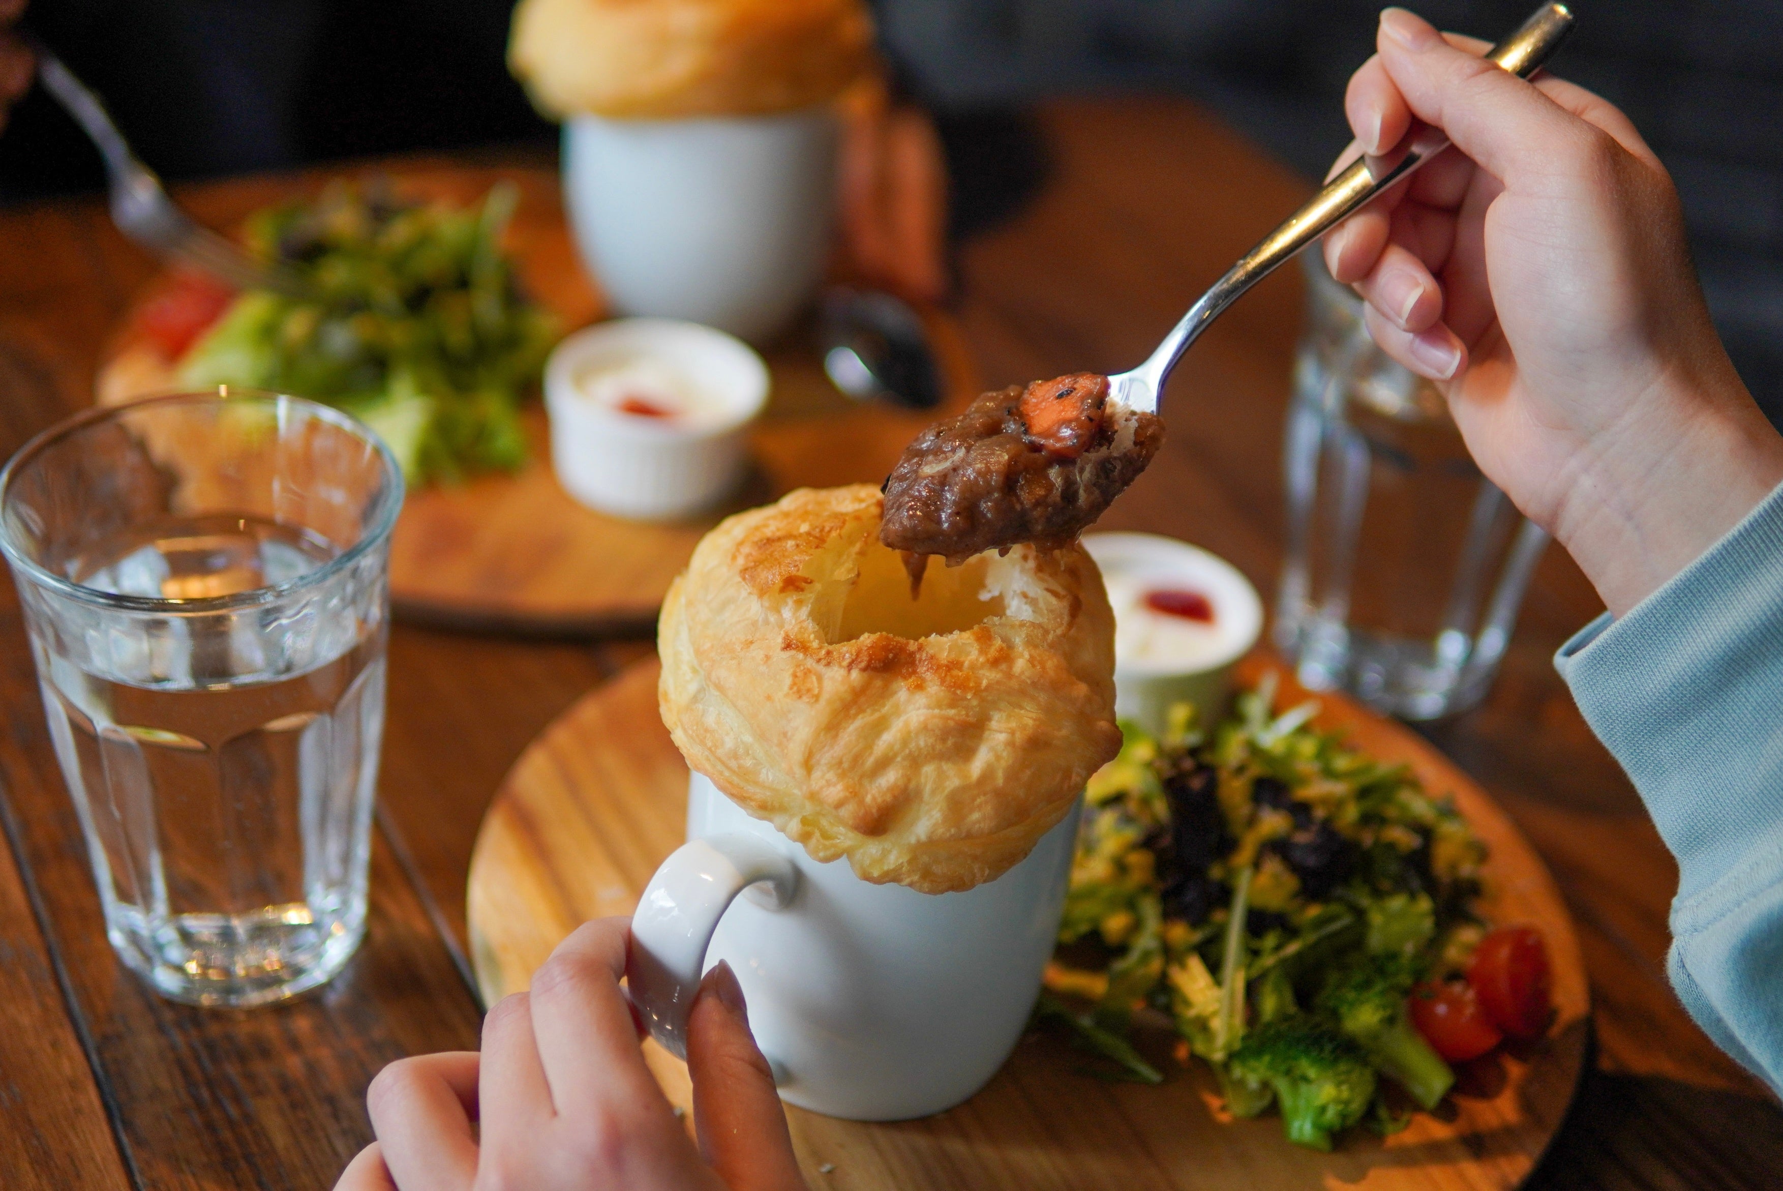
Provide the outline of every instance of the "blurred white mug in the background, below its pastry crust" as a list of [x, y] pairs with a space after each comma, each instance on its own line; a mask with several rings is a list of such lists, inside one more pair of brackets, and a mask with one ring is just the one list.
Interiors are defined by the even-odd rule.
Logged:
[[563, 125], [563, 198], [581, 259], [620, 314], [783, 330], [824, 273], [840, 123], [783, 116]]

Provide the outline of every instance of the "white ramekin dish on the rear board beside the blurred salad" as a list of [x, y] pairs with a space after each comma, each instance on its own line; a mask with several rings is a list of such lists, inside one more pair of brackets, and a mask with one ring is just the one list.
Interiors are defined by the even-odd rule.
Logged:
[[[720, 408], [699, 424], [620, 414], [581, 396], [576, 378], [603, 358], [645, 357], [685, 373]], [[674, 319], [615, 319], [563, 339], [546, 362], [551, 465], [563, 490], [603, 513], [686, 517], [744, 478], [744, 431], [768, 398], [768, 367], [724, 332]]]

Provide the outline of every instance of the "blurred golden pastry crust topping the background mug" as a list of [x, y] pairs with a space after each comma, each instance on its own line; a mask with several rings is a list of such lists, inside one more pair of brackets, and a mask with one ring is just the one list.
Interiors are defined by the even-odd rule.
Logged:
[[872, 61], [861, 0], [521, 0], [508, 68], [553, 118], [761, 116]]

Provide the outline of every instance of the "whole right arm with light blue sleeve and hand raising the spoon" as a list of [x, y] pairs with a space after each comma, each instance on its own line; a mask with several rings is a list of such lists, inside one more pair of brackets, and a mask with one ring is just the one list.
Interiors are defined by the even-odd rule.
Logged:
[[1678, 196], [1619, 111], [1521, 82], [1398, 9], [1376, 45], [1339, 164], [1391, 148], [1412, 116], [1455, 148], [1334, 232], [1327, 264], [1617, 617], [1562, 651], [1562, 674], [1678, 856], [1680, 997], [1783, 1089], [1783, 439], [1728, 362]]

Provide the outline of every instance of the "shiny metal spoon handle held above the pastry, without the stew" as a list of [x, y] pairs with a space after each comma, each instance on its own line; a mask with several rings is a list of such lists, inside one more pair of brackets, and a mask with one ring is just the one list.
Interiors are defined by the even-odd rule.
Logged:
[[[1573, 12], [1564, 4], [1544, 4], [1517, 32], [1510, 34], [1485, 57], [1519, 78], [1528, 78], [1573, 32]], [[1109, 399], [1132, 410], [1157, 414], [1164, 398], [1164, 382], [1182, 353], [1189, 349], [1207, 324], [1225, 314], [1239, 294], [1266, 278], [1282, 264], [1293, 260], [1303, 248], [1355, 214], [1364, 203], [1448, 148], [1448, 137], [1439, 128], [1417, 123], [1403, 141], [1384, 157], [1364, 157], [1337, 175], [1311, 203], [1287, 218], [1282, 226], [1232, 266], [1200, 301], [1189, 307], [1175, 330], [1164, 337], [1139, 367], [1109, 376]]]

